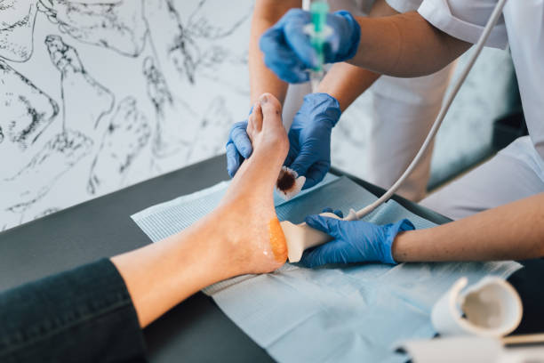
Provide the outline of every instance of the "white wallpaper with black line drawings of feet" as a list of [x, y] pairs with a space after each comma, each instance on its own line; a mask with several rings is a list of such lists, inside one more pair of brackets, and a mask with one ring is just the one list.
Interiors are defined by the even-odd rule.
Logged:
[[0, 0], [0, 230], [223, 152], [252, 2]]

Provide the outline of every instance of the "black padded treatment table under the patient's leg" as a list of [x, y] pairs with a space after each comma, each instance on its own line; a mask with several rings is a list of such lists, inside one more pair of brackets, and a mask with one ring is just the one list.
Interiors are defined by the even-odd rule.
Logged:
[[[332, 173], [345, 174], [335, 169]], [[368, 182], [348, 177], [376, 195], [384, 192]], [[227, 179], [225, 157], [213, 157], [6, 230], [0, 233], [0, 291], [101, 257], [145, 246], [150, 240], [132, 222], [132, 214]], [[429, 221], [449, 221], [404, 198], [395, 199]], [[541, 272], [544, 269], [540, 262], [532, 264]], [[532, 273], [525, 275], [532, 276]], [[519, 284], [530, 292], [535, 309], [538, 308], [534, 294], [542, 290], [540, 283], [535, 287], [526, 276], [518, 279]], [[180, 303], [147, 327], [144, 335], [152, 362], [177, 362], [180, 359], [198, 362], [272, 361], [266, 351], [253, 343], [211, 298], [202, 293]]]

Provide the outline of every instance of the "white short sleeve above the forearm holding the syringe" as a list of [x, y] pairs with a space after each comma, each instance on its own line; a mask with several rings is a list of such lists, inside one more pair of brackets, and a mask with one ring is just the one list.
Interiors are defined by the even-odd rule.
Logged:
[[[423, 0], [418, 12], [444, 33], [476, 44], [496, 4], [497, 0]], [[485, 45], [507, 47], [508, 35], [502, 15]]]

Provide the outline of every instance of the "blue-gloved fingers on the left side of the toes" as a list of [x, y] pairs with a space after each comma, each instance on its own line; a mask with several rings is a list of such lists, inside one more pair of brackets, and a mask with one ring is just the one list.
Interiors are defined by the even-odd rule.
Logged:
[[[250, 110], [250, 115], [252, 110], [253, 108]], [[247, 120], [236, 122], [235, 125], [232, 125], [228, 134], [225, 148], [227, 149], [227, 171], [231, 178], [235, 176], [244, 159], [250, 157], [253, 152], [252, 141], [250, 141], [246, 130]]]

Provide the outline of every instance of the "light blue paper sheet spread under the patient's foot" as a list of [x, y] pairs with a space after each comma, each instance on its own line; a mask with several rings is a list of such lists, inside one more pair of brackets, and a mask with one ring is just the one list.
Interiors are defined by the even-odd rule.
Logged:
[[[228, 184], [152, 206], [132, 219], [154, 242], [186, 228], [219, 203]], [[280, 220], [301, 222], [324, 206], [360, 209], [376, 197], [348, 178], [328, 175], [314, 189], [283, 202]], [[409, 218], [416, 228], [434, 224], [390, 200], [365, 217], [385, 224]], [[436, 241], [440, 243], [440, 241]], [[361, 263], [305, 269], [285, 264], [265, 275], [248, 275], [204, 290], [230, 319], [281, 362], [402, 362], [391, 351], [399, 340], [430, 338], [430, 311], [461, 276], [507, 278], [516, 262]]]

